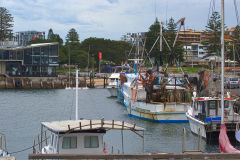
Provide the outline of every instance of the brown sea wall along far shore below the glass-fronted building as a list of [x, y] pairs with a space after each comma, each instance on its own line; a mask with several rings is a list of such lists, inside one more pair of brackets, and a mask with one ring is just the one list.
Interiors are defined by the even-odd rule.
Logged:
[[[79, 73], [79, 87], [106, 87], [108, 77], [106, 73]], [[0, 75], [0, 89], [63, 89], [66, 86], [75, 87], [75, 76], [58, 75], [57, 77], [10, 77]]]

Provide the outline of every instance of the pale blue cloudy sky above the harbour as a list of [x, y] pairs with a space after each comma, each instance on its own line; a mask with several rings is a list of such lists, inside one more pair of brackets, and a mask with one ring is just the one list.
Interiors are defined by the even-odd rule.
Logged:
[[[215, 5], [213, 5], [215, 1]], [[147, 32], [156, 17], [163, 22], [185, 17], [185, 28], [204, 30], [213, 6], [221, 0], [0, 0], [14, 17], [14, 32], [50, 28], [65, 40], [75, 28], [80, 41], [89, 37], [120, 40], [129, 32]], [[237, 0], [240, 10], [240, 0]], [[225, 0], [225, 24], [237, 25], [233, 0]]]

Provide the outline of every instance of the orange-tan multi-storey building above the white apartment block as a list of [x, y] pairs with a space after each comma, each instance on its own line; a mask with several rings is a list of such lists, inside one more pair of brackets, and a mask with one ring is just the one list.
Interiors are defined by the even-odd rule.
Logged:
[[184, 44], [202, 43], [202, 31], [193, 31], [192, 29], [186, 29], [179, 32], [178, 40]]

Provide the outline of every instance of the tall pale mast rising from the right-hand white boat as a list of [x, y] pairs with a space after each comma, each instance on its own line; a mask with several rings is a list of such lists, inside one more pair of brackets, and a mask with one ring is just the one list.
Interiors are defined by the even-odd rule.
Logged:
[[224, 0], [221, 0], [221, 124], [224, 123]]

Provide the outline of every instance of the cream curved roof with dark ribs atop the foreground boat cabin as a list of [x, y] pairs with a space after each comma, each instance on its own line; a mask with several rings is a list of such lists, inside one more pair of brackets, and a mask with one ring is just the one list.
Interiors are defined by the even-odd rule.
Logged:
[[64, 120], [53, 122], [42, 122], [44, 127], [53, 132], [68, 132], [68, 131], [91, 131], [91, 130], [132, 130], [143, 131], [144, 128], [137, 127], [135, 124], [129, 124], [124, 121], [105, 121], [105, 120]]

